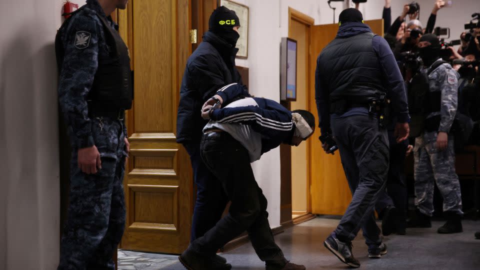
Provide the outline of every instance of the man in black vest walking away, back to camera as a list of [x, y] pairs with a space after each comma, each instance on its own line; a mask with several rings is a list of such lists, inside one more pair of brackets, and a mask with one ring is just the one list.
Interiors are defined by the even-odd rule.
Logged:
[[388, 171], [387, 96], [398, 119], [396, 140], [404, 140], [409, 132], [404, 82], [393, 53], [386, 40], [362, 20], [354, 8], [340, 13], [338, 33], [318, 56], [315, 71], [322, 147], [333, 153], [336, 144], [353, 195], [324, 245], [352, 267], [360, 266], [351, 250], [360, 227], [368, 257], [386, 254], [373, 207]]

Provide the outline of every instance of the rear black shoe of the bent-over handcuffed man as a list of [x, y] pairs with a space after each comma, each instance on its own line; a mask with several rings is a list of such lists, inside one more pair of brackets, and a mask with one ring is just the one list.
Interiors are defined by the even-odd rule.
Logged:
[[230, 270], [231, 264], [220, 263], [214, 256], [205, 256], [188, 247], [178, 257], [181, 264], [188, 270]]

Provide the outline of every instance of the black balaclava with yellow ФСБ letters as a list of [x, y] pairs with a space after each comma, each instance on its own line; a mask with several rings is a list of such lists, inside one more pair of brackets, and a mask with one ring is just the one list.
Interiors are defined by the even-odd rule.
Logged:
[[236, 41], [240, 37], [240, 34], [233, 30], [234, 26], [240, 26], [240, 20], [235, 11], [224, 6], [219, 6], [213, 10], [208, 20], [208, 30], [224, 39], [233, 47], [236, 46]]

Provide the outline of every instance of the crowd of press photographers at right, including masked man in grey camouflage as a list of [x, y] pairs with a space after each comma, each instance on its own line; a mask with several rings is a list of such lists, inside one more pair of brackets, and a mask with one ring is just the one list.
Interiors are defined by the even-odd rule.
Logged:
[[[366, 0], [353, 2], [358, 9]], [[387, 233], [405, 234], [406, 227], [431, 227], [435, 184], [443, 197], [447, 220], [438, 233], [462, 231], [464, 213], [455, 153], [480, 144], [480, 10], [465, 14], [464, 31], [455, 39], [450, 36], [451, 25], [436, 25], [437, 13], [444, 7], [454, 5], [452, 1], [434, 2], [426, 26], [418, 20], [417, 2], [405, 3], [393, 23], [390, 0], [385, 0], [383, 7], [383, 37], [403, 77], [410, 115], [407, 140], [395, 142], [394, 124], [388, 128], [386, 193], [375, 205]], [[414, 194], [407, 194], [404, 156], [412, 153]], [[407, 197], [415, 197], [414, 212], [407, 211]], [[475, 237], [480, 238], [480, 232]]]

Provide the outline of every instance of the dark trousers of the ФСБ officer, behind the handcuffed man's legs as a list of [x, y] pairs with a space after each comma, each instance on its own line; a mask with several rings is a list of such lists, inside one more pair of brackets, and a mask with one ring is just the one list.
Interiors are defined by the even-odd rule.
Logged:
[[196, 184], [196, 201], [193, 208], [190, 242], [203, 236], [221, 218], [228, 198], [221, 183], [201, 159], [200, 143], [185, 144], [190, 155], [193, 181]]

